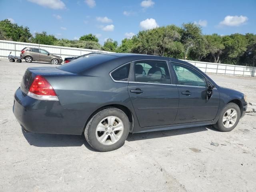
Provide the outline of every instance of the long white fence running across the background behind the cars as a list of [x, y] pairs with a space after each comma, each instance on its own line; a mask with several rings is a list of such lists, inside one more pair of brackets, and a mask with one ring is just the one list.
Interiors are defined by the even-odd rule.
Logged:
[[[0, 40], [0, 58], [7, 58], [8, 55], [10, 54], [10, 51], [12, 51], [12, 55], [19, 56], [20, 51], [24, 47], [38, 47], [38, 44]], [[45, 49], [52, 54], [61, 56], [63, 59], [68, 56], [80, 56], [90, 52], [99, 52], [99, 50], [61, 47], [61, 46], [52, 46], [52, 45], [40, 45], [40, 48]], [[106, 52], [106, 51], [102, 51], [102, 52]], [[186, 60], [186, 61], [198, 67], [200, 70], [206, 73], [233, 75], [233, 76], [252, 76], [252, 77], [256, 76], [255, 75], [256, 67], [189, 61], [189, 60]]]

